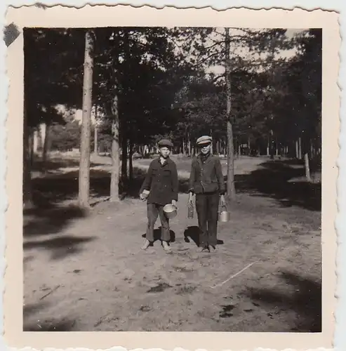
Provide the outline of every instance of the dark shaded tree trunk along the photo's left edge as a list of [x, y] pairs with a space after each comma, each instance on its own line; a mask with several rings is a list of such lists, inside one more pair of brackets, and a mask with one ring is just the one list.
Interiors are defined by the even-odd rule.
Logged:
[[27, 126], [27, 105], [24, 95], [23, 113], [23, 208], [32, 208], [32, 183], [29, 157], [29, 126]]

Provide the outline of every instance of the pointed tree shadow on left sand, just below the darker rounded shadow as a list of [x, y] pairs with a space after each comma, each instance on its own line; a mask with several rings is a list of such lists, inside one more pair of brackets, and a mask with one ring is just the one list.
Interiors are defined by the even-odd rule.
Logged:
[[25, 241], [23, 249], [48, 249], [52, 260], [60, 260], [66, 256], [82, 251], [81, 244], [94, 241], [95, 237], [73, 237], [64, 235], [52, 239]]

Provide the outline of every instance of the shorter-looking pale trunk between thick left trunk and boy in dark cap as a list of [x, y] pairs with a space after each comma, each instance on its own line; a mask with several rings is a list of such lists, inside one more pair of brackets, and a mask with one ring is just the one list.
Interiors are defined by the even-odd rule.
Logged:
[[[117, 87], [114, 88], [116, 95], [114, 95], [112, 113], [112, 172], [110, 182], [110, 199], [111, 202], [120, 201], [119, 198], [119, 173], [120, 173], [120, 147], [119, 147], [119, 111], [118, 111], [118, 95]], [[144, 154], [143, 150], [143, 154]]]

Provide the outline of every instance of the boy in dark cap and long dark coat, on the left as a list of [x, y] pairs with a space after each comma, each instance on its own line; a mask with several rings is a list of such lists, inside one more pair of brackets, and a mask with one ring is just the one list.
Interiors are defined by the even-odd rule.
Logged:
[[169, 158], [173, 144], [170, 140], [160, 140], [158, 143], [160, 156], [154, 159], [147, 172], [147, 176], [140, 189], [140, 199], [145, 201], [145, 194], [149, 192], [147, 197], [147, 234], [145, 244], [142, 246], [146, 250], [150, 244], [154, 242], [154, 225], [157, 217], [161, 220], [161, 241], [164, 250], [170, 252], [168, 246], [170, 240], [169, 221], [164, 214], [164, 206], [166, 204], [176, 205], [178, 201], [178, 171], [175, 163]]

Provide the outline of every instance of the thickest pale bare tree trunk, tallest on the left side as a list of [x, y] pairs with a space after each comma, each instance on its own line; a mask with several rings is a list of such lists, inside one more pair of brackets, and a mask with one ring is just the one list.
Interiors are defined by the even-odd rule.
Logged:
[[[93, 93], [93, 33], [86, 31], [84, 51], [83, 113], [81, 119], [81, 161], [79, 163], [79, 205], [89, 206], [91, 103]], [[46, 132], [47, 133], [47, 132]]]

